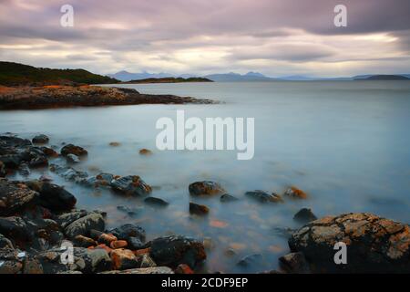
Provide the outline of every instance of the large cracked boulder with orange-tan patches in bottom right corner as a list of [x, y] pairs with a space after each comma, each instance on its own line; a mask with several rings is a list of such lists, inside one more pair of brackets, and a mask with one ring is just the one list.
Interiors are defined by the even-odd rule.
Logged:
[[[403, 273], [410, 270], [410, 227], [374, 214], [327, 216], [306, 224], [289, 239], [313, 273]], [[343, 242], [348, 265], [335, 265], [334, 245]]]

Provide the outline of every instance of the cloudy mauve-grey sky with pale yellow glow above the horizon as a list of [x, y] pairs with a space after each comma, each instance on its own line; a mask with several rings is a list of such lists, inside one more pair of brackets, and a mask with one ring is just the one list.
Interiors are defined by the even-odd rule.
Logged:
[[[74, 26], [60, 25], [62, 5]], [[99, 74], [410, 73], [410, 1], [0, 0], [0, 60]]]

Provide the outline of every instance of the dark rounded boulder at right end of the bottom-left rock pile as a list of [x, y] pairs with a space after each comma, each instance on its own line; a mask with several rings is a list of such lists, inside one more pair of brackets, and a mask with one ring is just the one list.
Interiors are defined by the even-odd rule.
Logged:
[[150, 256], [159, 266], [187, 264], [194, 268], [206, 259], [202, 243], [184, 236], [159, 237], [149, 243]]

